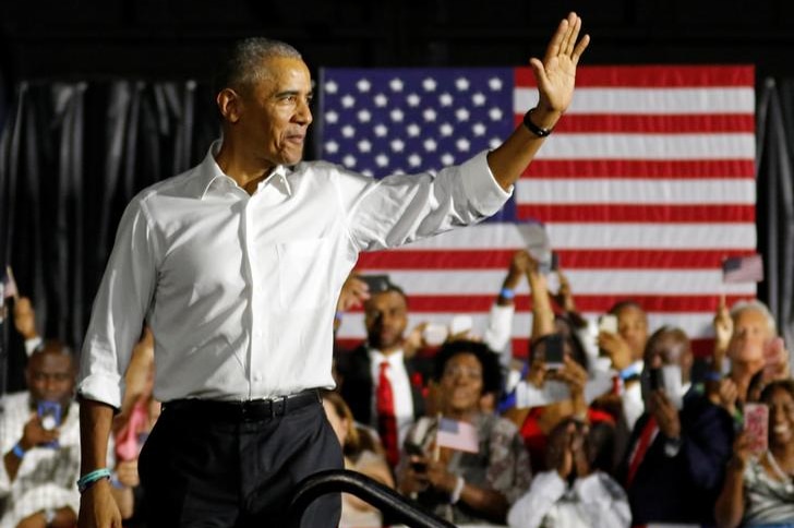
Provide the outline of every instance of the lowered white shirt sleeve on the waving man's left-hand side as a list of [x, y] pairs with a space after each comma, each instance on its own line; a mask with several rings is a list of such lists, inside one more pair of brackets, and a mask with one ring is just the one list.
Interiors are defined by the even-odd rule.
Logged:
[[116, 242], [97, 291], [81, 353], [79, 394], [121, 406], [123, 373], [156, 285], [157, 236], [143, 200], [135, 199], [119, 223]]

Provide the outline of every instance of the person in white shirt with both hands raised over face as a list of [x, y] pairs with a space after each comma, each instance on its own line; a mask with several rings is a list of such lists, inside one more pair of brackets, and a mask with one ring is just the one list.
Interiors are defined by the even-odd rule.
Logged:
[[628, 528], [626, 493], [599, 467], [604, 433], [612, 432], [605, 424], [591, 430], [575, 418], [561, 421], [549, 436], [550, 469], [537, 473], [529, 492], [513, 505], [510, 528]]

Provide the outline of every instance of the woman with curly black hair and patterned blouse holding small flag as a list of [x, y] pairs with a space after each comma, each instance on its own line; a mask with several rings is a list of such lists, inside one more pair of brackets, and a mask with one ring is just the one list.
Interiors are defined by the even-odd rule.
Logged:
[[[502, 386], [498, 358], [481, 343], [447, 343], [435, 356], [434, 375], [440, 415], [408, 432], [398, 489], [455, 524], [504, 523], [529, 487], [530, 467], [515, 425], [480, 408], [482, 395]], [[457, 428], [455, 443], [470, 444], [469, 451], [438, 442], [440, 424], [444, 434], [446, 425]]]

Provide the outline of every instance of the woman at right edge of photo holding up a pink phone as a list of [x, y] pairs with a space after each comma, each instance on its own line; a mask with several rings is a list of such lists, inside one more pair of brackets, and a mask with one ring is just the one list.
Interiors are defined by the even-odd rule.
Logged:
[[794, 381], [771, 382], [761, 393], [769, 407], [769, 441], [750, 453], [750, 439], [734, 442], [715, 517], [720, 528], [794, 527]]

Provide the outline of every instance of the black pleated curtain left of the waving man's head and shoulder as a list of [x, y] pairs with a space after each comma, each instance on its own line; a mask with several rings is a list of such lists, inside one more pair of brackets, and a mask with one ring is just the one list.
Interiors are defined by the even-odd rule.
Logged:
[[[207, 86], [21, 83], [0, 142], [0, 249], [40, 335], [79, 350], [124, 205], [219, 136]], [[9, 325], [11, 326], [11, 325]], [[10, 332], [8, 391], [24, 387]]]

